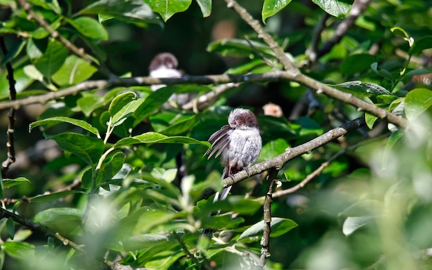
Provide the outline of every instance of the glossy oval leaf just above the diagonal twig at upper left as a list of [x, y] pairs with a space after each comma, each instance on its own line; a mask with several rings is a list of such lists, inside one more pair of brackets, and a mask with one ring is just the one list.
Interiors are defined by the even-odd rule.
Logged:
[[80, 34], [90, 39], [108, 40], [108, 31], [99, 21], [90, 17], [78, 17], [76, 19], [68, 19], [66, 21], [72, 25]]

